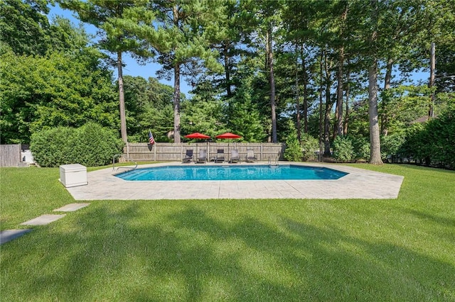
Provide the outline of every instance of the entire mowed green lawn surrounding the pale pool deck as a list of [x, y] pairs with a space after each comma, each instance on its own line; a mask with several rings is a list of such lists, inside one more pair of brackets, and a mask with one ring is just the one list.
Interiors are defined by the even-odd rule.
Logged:
[[[0, 247], [0, 301], [455, 301], [455, 172], [390, 200], [91, 201]], [[75, 202], [1, 169], [1, 229]], [[178, 184], [176, 184], [178, 190]]]

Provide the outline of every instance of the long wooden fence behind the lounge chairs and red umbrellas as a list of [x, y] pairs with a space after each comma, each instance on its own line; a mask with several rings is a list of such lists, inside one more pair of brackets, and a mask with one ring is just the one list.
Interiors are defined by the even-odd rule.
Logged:
[[186, 150], [193, 149], [193, 157], [198, 157], [199, 150], [207, 150], [207, 160], [213, 159], [217, 150], [223, 149], [225, 160], [230, 159], [233, 149], [237, 149], [240, 160], [245, 161], [247, 150], [252, 149], [259, 161], [283, 160], [284, 143], [274, 142], [156, 142], [149, 145], [145, 142], [130, 142], [123, 149], [125, 159], [136, 162], [146, 161], [181, 161], [186, 155]]

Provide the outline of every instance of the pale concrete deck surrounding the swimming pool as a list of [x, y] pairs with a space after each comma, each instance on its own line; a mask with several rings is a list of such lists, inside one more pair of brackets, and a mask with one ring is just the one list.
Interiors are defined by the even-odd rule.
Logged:
[[[191, 163], [193, 164], [193, 163]], [[207, 163], [213, 164], [213, 163]], [[240, 163], [245, 164], [245, 163]], [[257, 162], [255, 164], [267, 164]], [[289, 162], [280, 162], [289, 164]], [[348, 172], [336, 180], [208, 180], [208, 181], [125, 181], [112, 168], [87, 173], [88, 184], [67, 188], [77, 201], [210, 198], [397, 198], [404, 177], [328, 163], [292, 163], [328, 167]], [[186, 165], [179, 162], [146, 164], [144, 167]], [[215, 164], [221, 165], [221, 164]]]

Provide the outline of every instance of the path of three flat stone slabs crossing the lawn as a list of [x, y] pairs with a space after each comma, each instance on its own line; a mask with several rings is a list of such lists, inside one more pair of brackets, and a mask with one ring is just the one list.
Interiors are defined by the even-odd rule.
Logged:
[[[56, 208], [53, 211], [55, 211], [55, 212], [73, 212], [73, 211], [79, 210], [80, 208], [84, 208], [84, 207], [88, 206], [89, 204], [90, 203], [70, 203], [61, 208]], [[52, 223], [53, 221], [56, 221], [56, 220], [59, 220], [60, 218], [65, 217], [65, 216], [66, 216], [66, 214], [41, 215], [37, 218], [28, 220], [25, 223], [21, 223], [21, 225], [47, 225], [49, 223]], [[0, 232], [0, 245], [3, 245], [6, 242], [9, 242], [18, 237], [21, 237], [22, 235], [25, 235], [26, 233], [30, 233], [32, 230], [33, 229], [30, 229], [30, 228], [21, 229], [21, 230], [2, 230]]]

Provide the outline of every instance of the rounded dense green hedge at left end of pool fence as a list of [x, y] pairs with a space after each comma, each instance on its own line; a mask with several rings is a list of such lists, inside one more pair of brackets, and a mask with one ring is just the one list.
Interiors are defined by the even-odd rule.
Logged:
[[80, 128], [57, 127], [34, 133], [31, 151], [41, 167], [83, 164], [88, 167], [109, 164], [122, 152], [122, 140], [112, 130], [96, 123]]

